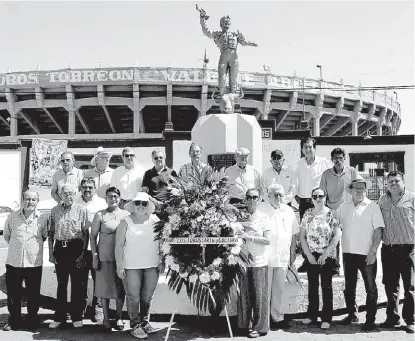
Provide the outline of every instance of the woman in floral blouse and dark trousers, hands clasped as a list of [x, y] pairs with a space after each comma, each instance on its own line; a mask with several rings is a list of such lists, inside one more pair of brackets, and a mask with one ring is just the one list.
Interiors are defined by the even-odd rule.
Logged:
[[335, 211], [328, 208], [321, 188], [311, 192], [314, 208], [308, 209], [300, 225], [300, 241], [306, 256], [308, 278], [308, 318], [304, 324], [316, 324], [319, 311], [319, 278], [323, 294], [321, 329], [330, 329], [333, 317], [333, 275], [336, 273], [336, 245], [341, 238], [340, 220]]

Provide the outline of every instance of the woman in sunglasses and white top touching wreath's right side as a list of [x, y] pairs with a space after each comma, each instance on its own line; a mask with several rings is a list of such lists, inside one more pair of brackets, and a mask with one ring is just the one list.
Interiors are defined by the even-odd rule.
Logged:
[[237, 304], [238, 327], [249, 338], [269, 332], [268, 253], [266, 246], [271, 240], [269, 218], [257, 210], [261, 202], [259, 191], [249, 189], [245, 194], [249, 218], [240, 221], [245, 247], [252, 255], [246, 264], [246, 272], [239, 274]]

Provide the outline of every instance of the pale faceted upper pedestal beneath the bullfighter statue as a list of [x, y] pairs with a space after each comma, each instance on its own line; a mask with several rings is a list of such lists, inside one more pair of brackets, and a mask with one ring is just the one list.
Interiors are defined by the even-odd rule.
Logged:
[[208, 163], [208, 155], [234, 154], [238, 147], [244, 147], [251, 151], [248, 163], [262, 171], [261, 127], [254, 116], [202, 116], [192, 129], [192, 141], [203, 148], [203, 163]]

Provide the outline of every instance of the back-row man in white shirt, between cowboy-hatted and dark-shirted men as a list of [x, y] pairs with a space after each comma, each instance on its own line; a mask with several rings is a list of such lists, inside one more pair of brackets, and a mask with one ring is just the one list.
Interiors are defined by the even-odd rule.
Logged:
[[141, 191], [144, 176], [144, 170], [136, 163], [133, 148], [123, 149], [122, 160], [124, 165], [114, 170], [110, 183], [110, 187], [116, 187], [120, 190], [120, 208], [124, 208], [124, 205]]

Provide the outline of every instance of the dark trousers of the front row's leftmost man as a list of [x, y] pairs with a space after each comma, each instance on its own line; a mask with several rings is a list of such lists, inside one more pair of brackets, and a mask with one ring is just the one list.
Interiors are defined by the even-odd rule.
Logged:
[[6, 264], [7, 308], [10, 313], [9, 323], [21, 321], [22, 284], [25, 282], [28, 318], [37, 319], [40, 301], [40, 284], [42, 267], [20, 268]]

